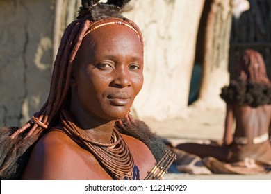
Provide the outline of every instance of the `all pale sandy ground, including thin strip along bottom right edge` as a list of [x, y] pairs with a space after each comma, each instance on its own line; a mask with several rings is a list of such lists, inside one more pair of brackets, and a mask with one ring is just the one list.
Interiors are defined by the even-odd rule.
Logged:
[[[176, 118], [169, 121], [154, 121], [142, 119], [158, 135], [172, 142], [173, 145], [181, 142], [204, 143], [209, 140], [221, 141], [224, 132], [224, 108], [203, 108], [190, 106], [187, 118]], [[163, 179], [268, 179], [271, 175], [189, 175], [186, 173], [167, 173]]]

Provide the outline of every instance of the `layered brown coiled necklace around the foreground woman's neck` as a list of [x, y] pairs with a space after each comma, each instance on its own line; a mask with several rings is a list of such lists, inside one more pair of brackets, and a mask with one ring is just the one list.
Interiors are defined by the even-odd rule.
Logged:
[[60, 118], [71, 138], [91, 152], [110, 175], [115, 179], [133, 178], [135, 166], [133, 157], [120, 132], [115, 127], [110, 142], [99, 143], [92, 140], [85, 130], [79, 127], [71, 112], [63, 110]]

